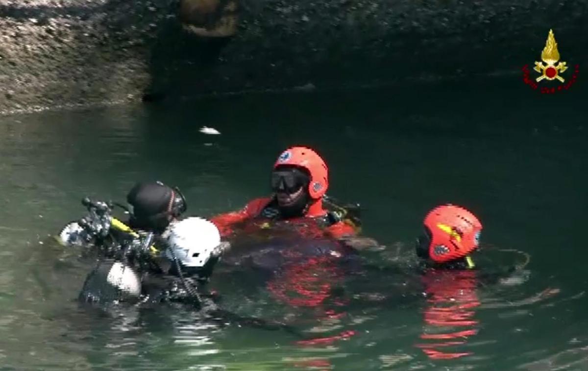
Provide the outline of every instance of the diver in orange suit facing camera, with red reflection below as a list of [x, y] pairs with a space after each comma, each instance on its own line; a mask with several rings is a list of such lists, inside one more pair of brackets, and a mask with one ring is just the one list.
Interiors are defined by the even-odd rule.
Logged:
[[[222, 237], [235, 240], [223, 262], [230, 264], [235, 255], [241, 267], [246, 261], [257, 262], [255, 268], [270, 272], [268, 292], [298, 314], [310, 311], [319, 321], [345, 316], [338, 310], [345, 298], [337, 292], [345, 262], [357, 256], [365, 242], [356, 237], [359, 215], [326, 196], [327, 164], [308, 147], [290, 147], [278, 156], [270, 186], [270, 197], [211, 218]], [[345, 330], [306, 344], [346, 339], [353, 333]]]

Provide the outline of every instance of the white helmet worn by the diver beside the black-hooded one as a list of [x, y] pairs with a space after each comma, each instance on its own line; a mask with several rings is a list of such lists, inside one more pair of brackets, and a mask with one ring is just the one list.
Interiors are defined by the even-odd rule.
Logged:
[[171, 224], [162, 237], [168, 244], [166, 256], [173, 260], [175, 255], [184, 267], [203, 267], [210, 258], [220, 253], [222, 246], [216, 225], [198, 217]]

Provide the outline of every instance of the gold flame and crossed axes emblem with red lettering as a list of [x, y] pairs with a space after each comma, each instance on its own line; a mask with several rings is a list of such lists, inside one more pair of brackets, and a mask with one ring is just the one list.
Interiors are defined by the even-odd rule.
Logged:
[[[542, 86], [540, 92], [543, 94], [561, 92], [562, 90], [570, 89], [570, 87], [576, 82], [579, 72], [578, 65], [574, 66], [574, 72], [571, 77], [564, 77], [562, 74], [568, 69], [568, 67], [566, 62], [559, 62], [559, 59], [560, 56], [559, 51], [557, 50], [557, 42], [555, 41], [553, 31], [550, 29], [549, 35], [547, 35], [545, 48], [543, 48], [543, 52], [541, 52], [542, 62], [535, 62], [533, 68], [533, 70], [540, 73], [540, 76], [536, 77], [533, 81], [533, 77], [530, 77], [529, 65], [525, 65], [523, 67], [524, 83], [535, 90], [539, 89], [539, 85], [537, 85], [538, 82], [545, 83], [545, 80], [547, 80], [547, 82], [553, 81], [554, 83], [557, 83], [557, 86], [553, 86], [553, 83], [546, 83], [545, 86]], [[569, 72], [566, 75], [569, 75]], [[566, 79], [569, 80], [566, 82]]]

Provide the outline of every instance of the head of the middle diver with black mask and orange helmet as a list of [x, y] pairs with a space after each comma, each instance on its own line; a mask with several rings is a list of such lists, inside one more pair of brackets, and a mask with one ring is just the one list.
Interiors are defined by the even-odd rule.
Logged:
[[316, 216], [323, 211], [328, 168], [312, 149], [290, 147], [273, 165], [271, 185], [283, 217]]

